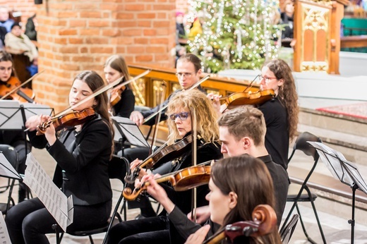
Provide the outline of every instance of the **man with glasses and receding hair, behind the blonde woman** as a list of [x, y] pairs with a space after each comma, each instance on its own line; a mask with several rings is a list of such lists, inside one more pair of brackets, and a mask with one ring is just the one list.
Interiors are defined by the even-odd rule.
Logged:
[[[169, 95], [169, 97], [162, 103], [160, 106], [165, 106], [169, 103], [169, 101], [177, 94], [177, 92], [180, 92], [181, 90], [187, 90], [188, 88], [192, 87], [195, 83], [197, 83], [200, 80], [201, 75], [201, 61], [200, 59], [195, 56], [194, 54], [185, 54], [181, 56], [177, 60], [177, 66], [176, 66], [176, 76], [179, 79], [179, 83], [181, 85], [182, 89], [175, 90], [172, 92], [172, 94]], [[198, 90], [201, 90], [204, 92], [203, 88], [198, 86]], [[149, 111], [133, 111], [130, 115], [130, 119], [134, 121], [138, 126], [141, 126], [143, 124], [144, 118], [147, 118], [148, 116], [155, 114], [155, 112], [160, 109], [160, 106], [155, 106], [154, 108], [150, 109]], [[161, 114], [161, 121], [167, 120], [167, 113], [165, 110], [162, 111]], [[150, 119], [150, 121], [147, 121], [145, 123], [148, 126], [152, 126], [155, 124], [155, 117]], [[124, 157], [128, 159], [128, 161], [133, 161], [134, 159], [145, 159], [148, 157], [149, 150], [146, 150], [145, 148], [133, 148], [133, 149], [126, 149], [124, 151]]]

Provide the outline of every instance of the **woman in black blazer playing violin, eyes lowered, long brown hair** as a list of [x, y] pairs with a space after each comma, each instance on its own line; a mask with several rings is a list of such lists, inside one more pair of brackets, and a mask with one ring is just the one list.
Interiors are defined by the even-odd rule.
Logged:
[[[95, 71], [79, 73], [71, 86], [69, 104], [78, 104], [103, 86], [103, 79]], [[44, 135], [36, 135], [37, 126], [50, 121], [49, 116], [32, 116], [25, 124], [32, 145], [46, 147], [56, 161], [54, 183], [67, 197], [73, 195], [73, 224], [67, 231], [99, 228], [111, 213], [108, 164], [112, 156], [113, 128], [108, 105], [107, 92], [80, 104], [75, 111], [92, 108], [95, 116], [83, 124], [61, 130], [59, 137], [53, 123]], [[6, 216], [12, 243], [49, 243], [45, 233], [54, 233], [54, 223], [54, 217], [37, 197], [12, 207]]]

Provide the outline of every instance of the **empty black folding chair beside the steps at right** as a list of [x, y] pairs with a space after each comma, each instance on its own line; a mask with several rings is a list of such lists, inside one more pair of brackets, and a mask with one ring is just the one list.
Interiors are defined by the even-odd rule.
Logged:
[[312, 166], [311, 170], [308, 172], [308, 175], [306, 176], [305, 180], [300, 185], [300, 187], [296, 187], [297, 185], [292, 185], [292, 184], [289, 185], [289, 190], [288, 190], [288, 195], [287, 195], [287, 202], [293, 202], [293, 205], [291, 206], [291, 209], [289, 210], [287, 218], [284, 220], [284, 224], [282, 225], [282, 228], [280, 229], [280, 232], [282, 233], [282, 231], [284, 231], [285, 226], [287, 226], [287, 222], [289, 220], [289, 217], [291, 216], [291, 213], [293, 212], [294, 207], [296, 207], [297, 212], [299, 214], [299, 220], [301, 222], [303, 233], [305, 234], [308, 241], [315, 244], [315, 241], [312, 240], [308, 236], [308, 233], [307, 233], [306, 228], [303, 224], [302, 217], [301, 217], [301, 212], [299, 211], [299, 206], [298, 206], [298, 202], [311, 202], [311, 206], [313, 208], [313, 213], [315, 214], [315, 218], [316, 218], [316, 221], [318, 223], [318, 228], [320, 230], [321, 237], [323, 238], [323, 243], [326, 243], [325, 236], [324, 236], [324, 233], [323, 233], [323, 228], [321, 228], [320, 220], [318, 219], [318, 213], [316, 211], [315, 203], [314, 203], [314, 201], [315, 201], [316, 197], [318, 197], [318, 195], [316, 195], [315, 193], [311, 193], [311, 190], [308, 188], [308, 185], [307, 185], [308, 179], [311, 177], [311, 174], [315, 170], [315, 167], [318, 163], [318, 158], [319, 158], [318, 153], [316, 152], [315, 148], [311, 147], [311, 145], [308, 144], [308, 141], [322, 142], [322, 140], [320, 138], [318, 138], [317, 136], [315, 136], [311, 133], [308, 133], [308, 132], [303, 132], [299, 135], [296, 142], [294, 143], [293, 151], [291, 152], [291, 156], [288, 159], [288, 163], [291, 161], [291, 158], [293, 157], [294, 152], [296, 152], [296, 150], [301, 150], [306, 155], [313, 157], [314, 162], [313, 162], [313, 166]]

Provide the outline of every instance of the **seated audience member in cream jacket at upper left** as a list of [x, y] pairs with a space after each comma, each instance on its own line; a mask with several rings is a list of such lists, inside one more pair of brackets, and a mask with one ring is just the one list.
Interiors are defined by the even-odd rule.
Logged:
[[37, 48], [35, 44], [23, 34], [19, 23], [11, 25], [11, 32], [8, 32], [5, 36], [5, 47], [6, 49], [23, 52], [25, 56], [28, 56], [31, 63], [34, 65], [37, 64]]

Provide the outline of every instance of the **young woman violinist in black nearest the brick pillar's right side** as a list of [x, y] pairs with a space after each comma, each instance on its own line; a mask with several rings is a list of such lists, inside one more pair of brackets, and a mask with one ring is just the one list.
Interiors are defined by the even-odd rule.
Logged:
[[[126, 80], [130, 80], [130, 75], [128, 73], [128, 67], [124, 57], [119, 55], [110, 56], [106, 63], [104, 63], [104, 78], [106, 78], [107, 83], [113, 83], [115, 80], [124, 76], [121, 83]], [[119, 87], [119, 89], [112, 90], [109, 95], [110, 105], [115, 116], [121, 116], [128, 118], [131, 112], [134, 110], [135, 96], [133, 90], [131, 90], [131, 85], [125, 85]]]

